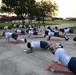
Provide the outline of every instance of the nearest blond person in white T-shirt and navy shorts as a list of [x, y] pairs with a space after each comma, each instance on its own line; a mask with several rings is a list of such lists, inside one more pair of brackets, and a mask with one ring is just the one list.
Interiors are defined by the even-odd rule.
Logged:
[[63, 48], [59, 48], [57, 44], [51, 44], [49, 50], [54, 54], [54, 62], [56, 64], [64, 65], [76, 75], [76, 57], [70, 57], [68, 53]]

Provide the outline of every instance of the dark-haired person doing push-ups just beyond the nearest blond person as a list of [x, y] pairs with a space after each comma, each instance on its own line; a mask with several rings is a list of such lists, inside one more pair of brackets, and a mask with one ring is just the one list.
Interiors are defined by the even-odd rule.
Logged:
[[27, 47], [29, 48], [29, 50], [24, 50], [26, 51], [26, 53], [32, 53], [33, 49], [38, 49], [38, 48], [42, 48], [44, 50], [47, 50], [49, 48], [49, 43], [46, 41], [32, 41], [32, 42], [28, 42], [27, 43]]

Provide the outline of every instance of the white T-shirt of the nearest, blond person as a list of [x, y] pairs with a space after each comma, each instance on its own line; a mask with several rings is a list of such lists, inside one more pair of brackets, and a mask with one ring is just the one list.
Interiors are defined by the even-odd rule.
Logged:
[[58, 48], [55, 52], [54, 61], [60, 61], [64, 66], [68, 66], [71, 57], [63, 48]]

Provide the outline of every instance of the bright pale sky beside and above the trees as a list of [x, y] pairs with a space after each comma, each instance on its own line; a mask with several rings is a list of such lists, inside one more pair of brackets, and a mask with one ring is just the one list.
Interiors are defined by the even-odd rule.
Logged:
[[[41, 0], [36, 0], [41, 1]], [[46, 0], [48, 1], [48, 0]], [[57, 17], [76, 17], [76, 0], [51, 0], [55, 1], [58, 5], [58, 15]], [[1, 5], [1, 0], [0, 0]]]

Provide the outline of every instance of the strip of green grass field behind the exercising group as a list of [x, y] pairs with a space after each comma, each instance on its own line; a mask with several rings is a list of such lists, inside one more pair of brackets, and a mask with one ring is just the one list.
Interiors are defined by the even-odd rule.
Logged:
[[[32, 22], [32, 23], [28, 23], [26, 22], [25, 25], [38, 25], [38, 26], [43, 26], [43, 25], [60, 25], [60, 24], [64, 24], [64, 23], [68, 23], [68, 24], [76, 24], [76, 21], [45, 21], [45, 23], [43, 24], [42, 21], [40, 21], [40, 23], [38, 23], [37, 21]], [[4, 26], [11, 26], [12, 24], [21, 24], [21, 23], [12, 23], [12, 22], [6, 22], [6, 23], [0, 23], [0, 27], [3, 28]], [[76, 26], [72, 27], [73, 29], [76, 30]]]

